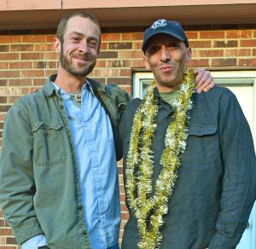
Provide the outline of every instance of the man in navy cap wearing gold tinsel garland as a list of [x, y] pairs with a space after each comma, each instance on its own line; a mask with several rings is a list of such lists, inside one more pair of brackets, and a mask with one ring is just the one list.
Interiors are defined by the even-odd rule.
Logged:
[[143, 53], [154, 82], [119, 125], [130, 212], [122, 249], [236, 248], [256, 197], [253, 138], [236, 96], [193, 91], [177, 21], [154, 21]]

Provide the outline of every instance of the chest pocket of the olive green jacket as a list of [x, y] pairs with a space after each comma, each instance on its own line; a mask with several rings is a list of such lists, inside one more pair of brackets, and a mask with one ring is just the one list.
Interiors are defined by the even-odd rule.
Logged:
[[38, 166], [60, 165], [67, 160], [64, 126], [39, 122], [32, 128], [33, 161]]

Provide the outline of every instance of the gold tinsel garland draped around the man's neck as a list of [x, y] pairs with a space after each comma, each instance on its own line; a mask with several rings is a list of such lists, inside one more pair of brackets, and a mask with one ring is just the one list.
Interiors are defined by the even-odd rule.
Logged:
[[143, 103], [134, 116], [125, 169], [125, 188], [131, 209], [137, 217], [140, 233], [138, 248], [160, 247], [162, 240], [160, 227], [163, 224], [163, 216], [168, 212], [168, 201], [177, 179], [179, 155], [186, 148], [189, 109], [192, 108], [190, 98], [193, 94], [194, 81], [194, 73], [187, 69], [178, 99], [173, 104], [174, 118], [166, 130], [165, 149], [160, 159], [163, 169], [155, 183], [155, 193], [152, 197], [149, 197], [152, 192], [154, 171], [154, 153], [151, 146], [156, 129], [155, 118], [158, 113], [154, 82], [148, 86]]

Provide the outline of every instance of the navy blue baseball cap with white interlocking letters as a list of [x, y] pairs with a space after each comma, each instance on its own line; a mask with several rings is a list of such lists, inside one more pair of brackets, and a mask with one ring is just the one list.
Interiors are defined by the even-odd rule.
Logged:
[[178, 21], [174, 20], [165, 20], [160, 19], [154, 21], [152, 26], [149, 26], [148, 29], [144, 32], [143, 38], [143, 52], [145, 53], [148, 41], [150, 38], [153, 38], [158, 34], [167, 34], [172, 36], [173, 38], [177, 38], [178, 40], [185, 43], [185, 45], [189, 48], [189, 40], [183, 31], [183, 27]]

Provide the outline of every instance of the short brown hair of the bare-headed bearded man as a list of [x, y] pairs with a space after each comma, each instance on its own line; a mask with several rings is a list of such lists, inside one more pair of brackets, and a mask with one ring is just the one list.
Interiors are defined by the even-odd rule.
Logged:
[[96, 26], [99, 27], [100, 39], [99, 39], [98, 48], [100, 48], [101, 42], [102, 42], [101, 26], [100, 26], [98, 20], [96, 20], [96, 17], [93, 14], [87, 13], [84, 10], [79, 10], [77, 12], [67, 14], [64, 18], [62, 18], [59, 25], [58, 25], [58, 28], [57, 28], [56, 37], [61, 41], [61, 43], [64, 42], [64, 33], [66, 32], [66, 28], [67, 28], [67, 21], [69, 19], [71, 19], [72, 17], [74, 17], [74, 16], [81, 16], [81, 17], [84, 17], [84, 18], [89, 18], [91, 21], [93, 21], [96, 24]]

